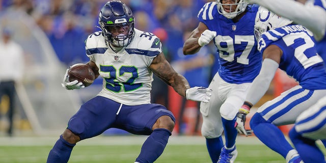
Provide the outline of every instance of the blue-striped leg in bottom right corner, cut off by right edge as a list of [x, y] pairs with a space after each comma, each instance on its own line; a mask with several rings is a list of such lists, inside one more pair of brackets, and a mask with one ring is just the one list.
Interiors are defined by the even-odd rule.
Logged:
[[316, 140], [326, 140], [326, 97], [303, 112], [289, 132], [294, 147], [305, 163], [325, 163]]

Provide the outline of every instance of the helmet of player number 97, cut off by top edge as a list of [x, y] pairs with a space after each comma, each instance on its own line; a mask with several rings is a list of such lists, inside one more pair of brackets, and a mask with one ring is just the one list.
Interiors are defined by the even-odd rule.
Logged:
[[[216, 4], [218, 5], [218, 11], [220, 14], [224, 15], [228, 19], [233, 19], [244, 10], [246, 10], [248, 3], [243, 2], [243, 0], [233, 0], [234, 4], [223, 4], [223, 0], [216, 0]], [[229, 11], [225, 11], [223, 7], [228, 7]], [[232, 8], [236, 6], [235, 10], [232, 11]]]

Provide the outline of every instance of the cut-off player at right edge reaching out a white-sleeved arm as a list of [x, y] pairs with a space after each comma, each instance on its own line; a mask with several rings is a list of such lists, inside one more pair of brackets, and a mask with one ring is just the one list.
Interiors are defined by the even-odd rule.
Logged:
[[[303, 24], [314, 33], [318, 53], [326, 63], [326, 1], [307, 1], [305, 5], [290, 0], [246, 0]], [[289, 8], [291, 6], [291, 8]], [[290, 130], [289, 137], [305, 162], [325, 162], [322, 151], [315, 141], [320, 139], [326, 146], [326, 97], [301, 114]]]

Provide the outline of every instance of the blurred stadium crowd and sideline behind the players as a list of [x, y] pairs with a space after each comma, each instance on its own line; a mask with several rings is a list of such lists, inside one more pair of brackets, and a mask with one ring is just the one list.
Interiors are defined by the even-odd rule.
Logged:
[[[24, 49], [25, 73], [16, 87], [14, 137], [51, 137], [62, 133], [71, 115], [84, 101], [101, 89], [101, 79], [88, 88], [67, 91], [61, 87], [65, 70], [75, 63], [86, 63], [84, 41], [99, 29], [98, 12], [103, 0], [0, 0], [0, 29], [9, 27], [14, 40]], [[135, 28], [157, 35], [167, 59], [194, 86], [207, 87], [217, 71], [215, 46], [209, 44], [195, 56], [182, 55], [183, 38], [198, 25], [197, 13], [205, 0], [125, 0], [135, 16]], [[187, 63], [201, 61], [198, 67], [185, 69]], [[202, 66], [203, 63], [205, 66]], [[198, 63], [197, 63], [198, 64]], [[181, 65], [181, 66], [180, 66]], [[184, 66], [184, 67], [182, 67]], [[14, 67], [8, 67], [14, 68]], [[195, 76], [196, 75], [196, 76]], [[201, 77], [198, 77], [201, 75]], [[265, 96], [255, 108], [296, 85], [279, 71]], [[0, 103], [0, 141], [8, 142], [8, 97]], [[185, 101], [158, 78], [154, 79], [152, 102], [166, 105], [176, 118], [173, 135], [200, 137], [201, 116], [198, 104]], [[255, 112], [255, 108], [250, 116]], [[247, 124], [247, 127], [249, 125]], [[286, 133], [290, 126], [283, 126]], [[106, 135], [128, 135], [110, 129]], [[195, 138], [195, 137], [194, 137]], [[197, 138], [197, 137], [196, 137]], [[202, 141], [202, 139], [200, 138]], [[52, 142], [51, 142], [52, 143]], [[203, 144], [204, 145], [204, 144]]]

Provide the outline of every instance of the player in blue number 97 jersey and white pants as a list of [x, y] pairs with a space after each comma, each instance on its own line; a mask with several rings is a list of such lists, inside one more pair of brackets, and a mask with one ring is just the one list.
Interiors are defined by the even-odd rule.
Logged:
[[236, 115], [262, 61], [254, 37], [257, 11], [257, 5], [247, 6], [242, 0], [206, 3], [198, 13], [197, 28], [183, 46], [184, 55], [198, 52], [212, 40], [218, 48], [220, 68], [209, 85], [212, 100], [200, 105], [201, 131], [212, 162], [234, 162], [237, 156]]

